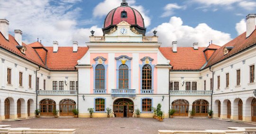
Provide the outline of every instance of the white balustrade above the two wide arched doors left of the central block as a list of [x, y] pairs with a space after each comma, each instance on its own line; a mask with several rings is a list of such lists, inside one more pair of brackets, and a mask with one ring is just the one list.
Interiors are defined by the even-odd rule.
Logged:
[[70, 90], [38, 90], [38, 95], [77, 95], [77, 91], [70, 91]]

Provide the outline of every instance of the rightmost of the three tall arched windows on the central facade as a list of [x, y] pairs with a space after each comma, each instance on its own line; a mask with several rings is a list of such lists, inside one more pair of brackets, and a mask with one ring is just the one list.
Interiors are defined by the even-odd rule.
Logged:
[[150, 65], [142, 67], [142, 89], [152, 89], [152, 68]]

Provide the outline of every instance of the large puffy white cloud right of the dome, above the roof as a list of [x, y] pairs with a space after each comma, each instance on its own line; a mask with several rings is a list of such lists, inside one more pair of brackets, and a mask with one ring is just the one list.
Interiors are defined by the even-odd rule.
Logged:
[[196, 27], [183, 25], [180, 17], [171, 17], [168, 23], [163, 23], [153, 28], [148, 34], [156, 30], [159, 36], [159, 42], [162, 47], [171, 47], [173, 41], [178, 41], [178, 46], [192, 47], [194, 42], [199, 42], [199, 46], [205, 47], [212, 40], [214, 44], [224, 45], [231, 40], [229, 33], [223, 33], [212, 29], [205, 23]]

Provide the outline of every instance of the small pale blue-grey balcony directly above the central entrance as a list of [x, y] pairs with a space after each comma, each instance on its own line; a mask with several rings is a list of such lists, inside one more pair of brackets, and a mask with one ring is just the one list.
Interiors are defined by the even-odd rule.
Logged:
[[112, 97], [135, 97], [135, 89], [112, 89]]

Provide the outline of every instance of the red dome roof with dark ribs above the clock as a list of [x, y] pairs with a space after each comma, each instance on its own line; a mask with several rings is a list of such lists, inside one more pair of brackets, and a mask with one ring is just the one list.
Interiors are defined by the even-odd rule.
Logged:
[[[122, 11], [127, 12], [127, 17], [121, 17]], [[120, 6], [109, 12], [105, 18], [104, 28], [109, 27], [110, 25], [117, 25], [122, 21], [128, 22], [130, 25], [138, 25], [142, 28], [144, 27], [144, 20], [141, 14], [134, 8], [129, 6]]]

